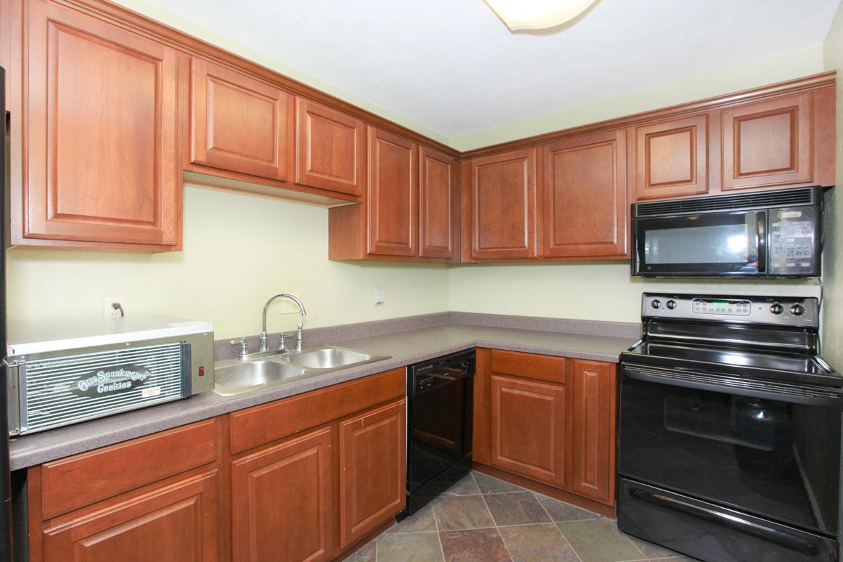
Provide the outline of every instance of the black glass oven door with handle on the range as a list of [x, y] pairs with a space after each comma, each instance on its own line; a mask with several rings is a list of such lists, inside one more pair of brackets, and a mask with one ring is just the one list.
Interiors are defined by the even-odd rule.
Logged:
[[[618, 472], [756, 517], [835, 537], [840, 399], [830, 388], [718, 386], [625, 365]], [[799, 389], [803, 388], [802, 391]]]

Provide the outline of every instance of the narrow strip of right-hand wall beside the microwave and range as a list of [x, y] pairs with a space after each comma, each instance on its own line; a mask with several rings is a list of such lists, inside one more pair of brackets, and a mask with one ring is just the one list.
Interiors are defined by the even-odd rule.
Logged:
[[825, 198], [823, 355], [843, 370], [843, 8], [824, 48], [826, 70], [837, 70], [837, 187]]

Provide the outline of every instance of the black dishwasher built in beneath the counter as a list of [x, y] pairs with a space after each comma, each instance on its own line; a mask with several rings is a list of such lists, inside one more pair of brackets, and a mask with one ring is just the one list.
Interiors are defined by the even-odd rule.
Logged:
[[475, 351], [407, 367], [407, 508], [401, 519], [471, 469]]

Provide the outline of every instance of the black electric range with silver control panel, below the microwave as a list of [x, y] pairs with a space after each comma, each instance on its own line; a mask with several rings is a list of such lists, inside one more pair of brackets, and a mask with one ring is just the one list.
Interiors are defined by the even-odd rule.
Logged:
[[813, 297], [645, 293], [621, 355], [618, 527], [708, 562], [835, 562], [843, 378]]

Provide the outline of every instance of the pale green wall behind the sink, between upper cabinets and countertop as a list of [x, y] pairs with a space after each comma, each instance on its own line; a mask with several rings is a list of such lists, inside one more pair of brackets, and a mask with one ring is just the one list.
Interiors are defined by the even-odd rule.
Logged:
[[[102, 318], [103, 297], [126, 297], [126, 313], [211, 321], [217, 338], [260, 332], [266, 299], [298, 293], [306, 327], [448, 310], [444, 265], [328, 261], [328, 211], [250, 195], [185, 188], [183, 252], [117, 254], [8, 251], [8, 316]], [[373, 286], [386, 291], [373, 307]], [[269, 315], [271, 331], [298, 314]]]

